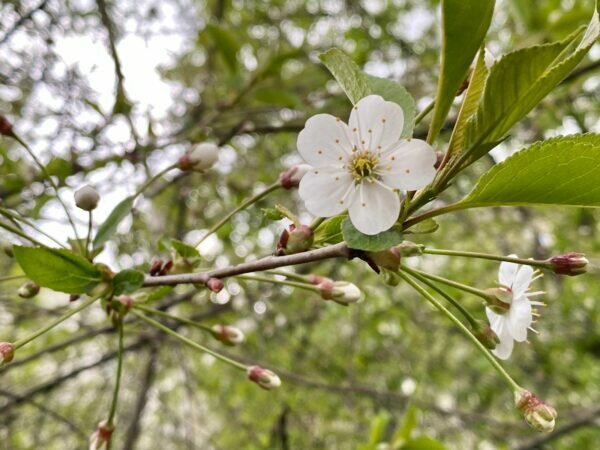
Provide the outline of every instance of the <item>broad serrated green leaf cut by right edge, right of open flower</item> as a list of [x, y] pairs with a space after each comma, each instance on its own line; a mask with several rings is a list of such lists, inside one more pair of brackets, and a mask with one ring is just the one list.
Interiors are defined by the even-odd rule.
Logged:
[[456, 209], [499, 205], [600, 207], [600, 135], [539, 142], [485, 173]]

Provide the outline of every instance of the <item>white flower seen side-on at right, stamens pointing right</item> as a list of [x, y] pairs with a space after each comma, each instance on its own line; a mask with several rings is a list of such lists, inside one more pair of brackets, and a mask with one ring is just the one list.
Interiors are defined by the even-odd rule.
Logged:
[[[510, 255], [516, 257], [516, 255]], [[531, 266], [525, 266], [510, 262], [502, 262], [498, 272], [498, 281], [506, 296], [503, 302], [508, 309], [505, 312], [494, 312], [486, 307], [485, 312], [490, 321], [490, 327], [500, 343], [492, 350], [492, 353], [500, 359], [508, 359], [512, 353], [514, 341], [523, 342], [527, 339], [527, 329], [533, 322], [532, 305], [543, 305], [540, 302], [532, 302], [529, 297], [541, 294], [541, 292], [529, 292], [529, 286], [535, 280], [534, 271]]]

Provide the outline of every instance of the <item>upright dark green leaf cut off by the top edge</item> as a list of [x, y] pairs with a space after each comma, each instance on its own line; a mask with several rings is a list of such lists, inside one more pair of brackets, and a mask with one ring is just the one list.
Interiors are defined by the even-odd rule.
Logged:
[[454, 97], [485, 38], [494, 0], [442, 0], [443, 41], [438, 90], [427, 140], [440, 132]]

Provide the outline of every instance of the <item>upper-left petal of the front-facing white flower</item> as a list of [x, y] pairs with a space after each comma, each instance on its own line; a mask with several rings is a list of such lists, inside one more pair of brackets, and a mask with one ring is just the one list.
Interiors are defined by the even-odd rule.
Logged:
[[348, 126], [330, 114], [317, 114], [298, 134], [298, 151], [315, 167], [342, 166], [352, 151]]

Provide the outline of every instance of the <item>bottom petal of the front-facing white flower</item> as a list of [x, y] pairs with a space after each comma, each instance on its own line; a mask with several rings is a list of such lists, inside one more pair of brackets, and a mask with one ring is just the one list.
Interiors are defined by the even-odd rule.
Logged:
[[348, 209], [352, 225], [364, 234], [388, 230], [398, 220], [400, 198], [376, 182], [363, 181]]

